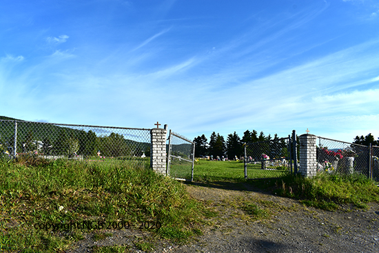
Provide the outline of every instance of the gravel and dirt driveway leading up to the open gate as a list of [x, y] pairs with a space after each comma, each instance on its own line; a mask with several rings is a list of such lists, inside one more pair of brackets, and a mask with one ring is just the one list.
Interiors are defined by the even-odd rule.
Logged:
[[[153, 252], [379, 252], [378, 203], [370, 204], [368, 210], [344, 206], [339, 211], [327, 212], [307, 208], [294, 199], [260, 192], [247, 184], [186, 185], [186, 188], [194, 199], [203, 201], [218, 216], [207, 221], [209, 225], [198, 239], [187, 245], [160, 242]], [[256, 219], [243, 210], [246, 204], [258, 205], [268, 215]], [[125, 245], [131, 236], [143, 240], [143, 236], [149, 235], [114, 234], [96, 243]], [[76, 252], [85, 252], [88, 247]], [[132, 252], [141, 251], [134, 247]]]

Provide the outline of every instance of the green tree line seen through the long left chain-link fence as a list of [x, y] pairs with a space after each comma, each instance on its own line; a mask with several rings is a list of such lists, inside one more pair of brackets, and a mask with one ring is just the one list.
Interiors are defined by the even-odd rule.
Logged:
[[[73, 130], [70, 128], [50, 128], [50, 133], [45, 136], [37, 136], [38, 129], [17, 132], [17, 153], [37, 152], [43, 155], [64, 156], [96, 156], [100, 151], [101, 156], [150, 156], [150, 143], [139, 143], [125, 139], [118, 133], [110, 133], [108, 136], [97, 136], [92, 130]], [[9, 131], [8, 131], [9, 132]], [[14, 146], [14, 134], [0, 135], [0, 153], [12, 153]]]

